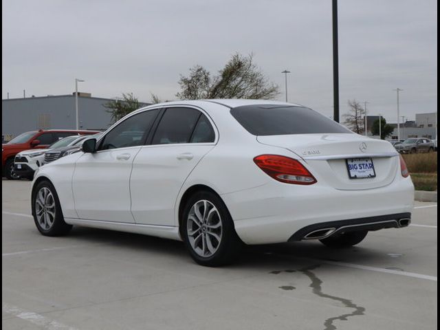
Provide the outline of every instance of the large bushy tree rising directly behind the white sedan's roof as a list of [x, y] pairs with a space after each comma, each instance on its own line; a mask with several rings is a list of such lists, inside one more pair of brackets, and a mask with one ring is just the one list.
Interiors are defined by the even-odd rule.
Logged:
[[275, 98], [278, 86], [270, 83], [255, 65], [252, 54], [234, 54], [217, 75], [211, 74], [201, 65], [190, 68], [188, 76], [180, 76], [181, 100], [206, 98]]

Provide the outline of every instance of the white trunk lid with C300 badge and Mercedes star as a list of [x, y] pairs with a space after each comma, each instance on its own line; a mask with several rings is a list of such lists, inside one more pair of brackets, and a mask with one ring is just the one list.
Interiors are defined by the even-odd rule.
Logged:
[[[258, 136], [257, 141], [281, 146], [302, 157], [318, 182], [340, 190], [363, 190], [391, 184], [399, 157], [391, 143], [354, 133]], [[347, 159], [371, 158], [375, 177], [351, 179]]]

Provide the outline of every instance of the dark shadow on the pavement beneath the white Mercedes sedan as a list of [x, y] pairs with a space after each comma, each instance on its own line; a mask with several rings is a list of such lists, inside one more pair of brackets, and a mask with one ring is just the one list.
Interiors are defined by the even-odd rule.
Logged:
[[[132, 234], [95, 228], [74, 227], [67, 237], [87, 243], [111, 244], [114, 248], [131, 249], [142, 253], [142, 250], [160, 254], [163, 258], [185, 258], [192, 263], [186, 247], [181, 241], [161, 239], [155, 236]], [[238, 252], [237, 260], [228, 267], [254, 268], [267, 263], [294, 264], [296, 262], [310, 263], [336, 261], [344, 263], [383, 264], [390, 261], [384, 252], [371, 248], [354, 246], [347, 249], [327, 248], [318, 241], [294, 242], [270, 245], [245, 245]]]

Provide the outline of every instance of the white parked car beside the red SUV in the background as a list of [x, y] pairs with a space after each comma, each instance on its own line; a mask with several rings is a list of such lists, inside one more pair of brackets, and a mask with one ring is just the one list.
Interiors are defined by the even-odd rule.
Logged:
[[71, 135], [52, 143], [45, 149], [31, 149], [17, 153], [14, 158], [14, 173], [19, 177], [31, 179], [37, 168], [45, 164], [45, 153], [64, 146], [74, 146], [90, 135]]

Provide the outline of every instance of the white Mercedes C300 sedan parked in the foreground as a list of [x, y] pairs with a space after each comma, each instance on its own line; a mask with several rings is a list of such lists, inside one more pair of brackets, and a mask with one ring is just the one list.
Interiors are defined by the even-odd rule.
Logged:
[[266, 100], [144, 107], [39, 168], [32, 184], [43, 235], [83, 225], [177, 239], [211, 266], [243, 243], [355, 245], [369, 230], [408, 226], [413, 200], [391, 144]]

